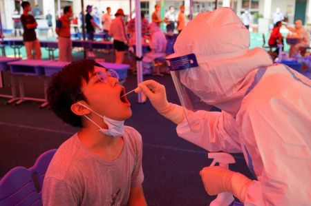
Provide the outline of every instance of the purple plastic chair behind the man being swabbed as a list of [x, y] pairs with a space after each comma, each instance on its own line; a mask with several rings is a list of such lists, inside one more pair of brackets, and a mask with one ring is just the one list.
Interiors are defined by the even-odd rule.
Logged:
[[0, 205], [42, 205], [41, 189], [46, 169], [53, 158], [56, 149], [41, 154], [35, 165], [15, 167], [11, 169], [0, 181]]

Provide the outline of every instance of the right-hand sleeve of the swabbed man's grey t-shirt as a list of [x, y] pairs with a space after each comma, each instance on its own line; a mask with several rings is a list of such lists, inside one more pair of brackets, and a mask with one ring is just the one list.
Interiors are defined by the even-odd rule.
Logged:
[[135, 130], [135, 140], [136, 140], [136, 147], [137, 147], [137, 156], [136, 156], [136, 163], [132, 173], [131, 178], [131, 187], [136, 187], [141, 185], [144, 181], [144, 173], [142, 172], [142, 136], [139, 132]]

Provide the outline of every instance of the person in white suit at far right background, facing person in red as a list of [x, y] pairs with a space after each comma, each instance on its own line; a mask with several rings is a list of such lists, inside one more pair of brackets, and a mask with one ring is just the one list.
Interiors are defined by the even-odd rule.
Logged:
[[299, 39], [298, 43], [292, 43], [290, 45], [290, 57], [295, 56], [299, 52], [299, 48], [308, 47], [310, 44], [310, 33], [306, 31], [302, 26], [302, 21], [300, 19], [295, 21], [295, 28], [285, 25], [290, 32], [293, 34], [289, 35], [288, 38]]

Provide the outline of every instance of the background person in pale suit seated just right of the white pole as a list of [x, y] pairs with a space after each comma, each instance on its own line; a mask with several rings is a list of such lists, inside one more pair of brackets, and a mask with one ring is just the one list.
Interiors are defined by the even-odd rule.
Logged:
[[160, 30], [157, 23], [150, 23], [149, 33], [151, 34], [151, 38], [149, 39], [149, 47], [151, 48], [151, 51], [144, 54], [144, 58], [142, 59], [142, 74], [151, 74], [154, 59], [166, 56], [167, 38], [165, 37], [164, 32]]

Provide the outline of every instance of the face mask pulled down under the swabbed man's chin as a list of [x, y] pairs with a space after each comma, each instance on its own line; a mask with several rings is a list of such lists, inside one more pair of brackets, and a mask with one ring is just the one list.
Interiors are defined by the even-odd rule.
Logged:
[[[78, 104], [82, 105], [82, 103], [78, 103]], [[82, 106], [86, 107], [86, 105], [82, 105]], [[88, 107], [86, 107], [86, 109], [91, 110]], [[91, 110], [91, 112], [94, 112], [94, 111]], [[102, 134], [113, 136], [113, 137], [119, 137], [119, 136], [124, 135], [124, 121], [117, 121], [114, 119], [109, 119], [108, 117], [102, 116], [102, 115], [98, 114], [97, 112], [94, 112], [94, 113], [97, 114], [98, 116], [102, 117], [104, 123], [106, 123], [106, 125], [108, 125], [108, 129], [104, 129], [104, 128], [100, 127], [100, 125], [97, 125], [97, 123], [95, 123], [93, 120], [91, 120], [88, 116], [84, 115], [86, 117], [86, 119], [88, 119], [94, 125], [96, 125], [98, 128], [100, 128], [100, 130], [98, 130], [99, 132], [101, 132]]]

